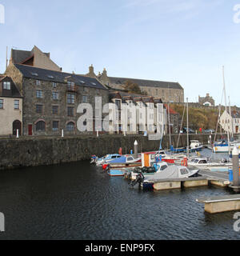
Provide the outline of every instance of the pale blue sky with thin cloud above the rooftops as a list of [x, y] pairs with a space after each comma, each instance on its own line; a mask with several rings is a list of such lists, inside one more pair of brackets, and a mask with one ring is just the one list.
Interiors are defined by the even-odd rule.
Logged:
[[[63, 71], [179, 82], [240, 106], [240, 0], [0, 0], [0, 73], [6, 46], [50, 52]], [[234, 9], [235, 8], [235, 9]], [[1, 8], [0, 8], [1, 10]], [[238, 14], [239, 12], [239, 14]], [[1, 21], [1, 11], [0, 11]], [[224, 99], [224, 98], [223, 98]]]

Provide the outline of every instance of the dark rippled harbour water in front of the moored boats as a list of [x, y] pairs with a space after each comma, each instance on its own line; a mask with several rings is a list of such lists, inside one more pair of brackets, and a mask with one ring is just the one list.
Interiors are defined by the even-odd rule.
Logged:
[[196, 198], [220, 187], [131, 188], [89, 162], [0, 172], [0, 239], [239, 239], [234, 212], [206, 214]]

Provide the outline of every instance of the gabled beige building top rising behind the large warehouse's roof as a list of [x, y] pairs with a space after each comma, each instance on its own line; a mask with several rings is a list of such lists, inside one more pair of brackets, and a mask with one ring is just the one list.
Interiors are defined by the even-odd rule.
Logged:
[[28, 50], [11, 50], [10, 64], [22, 64], [54, 71], [62, 71], [57, 64], [50, 59], [50, 53], [43, 53], [37, 46]]

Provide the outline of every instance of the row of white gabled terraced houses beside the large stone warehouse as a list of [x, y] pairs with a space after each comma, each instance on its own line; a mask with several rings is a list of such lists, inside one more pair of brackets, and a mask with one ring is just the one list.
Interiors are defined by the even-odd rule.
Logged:
[[110, 134], [163, 134], [166, 109], [160, 98], [110, 91]]

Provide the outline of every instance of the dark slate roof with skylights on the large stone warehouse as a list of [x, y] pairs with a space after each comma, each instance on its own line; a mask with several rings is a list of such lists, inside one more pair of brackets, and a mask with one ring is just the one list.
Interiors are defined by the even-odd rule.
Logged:
[[[14, 64], [14, 66], [22, 73], [24, 78], [32, 78], [35, 80], [43, 80], [49, 82], [62, 82], [66, 83], [66, 79], [75, 83], [77, 86], [85, 86], [96, 88], [99, 90], [106, 90], [102, 83], [96, 78], [88, 78], [78, 74], [70, 74], [65, 72], [58, 72], [54, 70], [45, 70], [34, 66], [26, 66], [21, 64]], [[34, 75], [38, 74], [37, 75]]]

